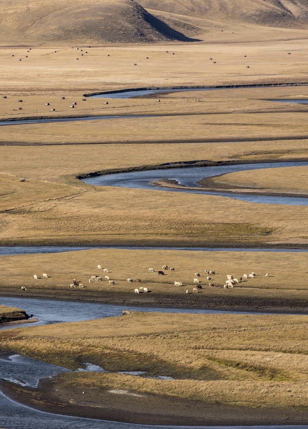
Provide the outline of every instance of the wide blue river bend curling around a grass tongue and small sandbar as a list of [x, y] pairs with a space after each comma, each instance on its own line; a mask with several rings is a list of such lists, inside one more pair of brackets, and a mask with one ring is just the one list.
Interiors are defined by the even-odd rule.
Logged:
[[[233, 199], [241, 199], [247, 202], [261, 202], [267, 204], [287, 204], [287, 205], [308, 205], [308, 198], [289, 196], [269, 196], [252, 195], [249, 193], [232, 192], [210, 192], [196, 182], [206, 177], [214, 177], [221, 174], [233, 173], [237, 171], [308, 166], [308, 162], [281, 162], [281, 163], [257, 163], [257, 164], [236, 164], [210, 167], [179, 167], [169, 169], [155, 169], [145, 171], [133, 171], [128, 173], [106, 174], [97, 177], [85, 178], [83, 181], [92, 185], [117, 186], [137, 189], [156, 189], [172, 192], [203, 193], [207, 195], [219, 195]], [[159, 179], [171, 179], [178, 184], [187, 187], [199, 187], [199, 189], [171, 188], [152, 185], [152, 181]], [[252, 189], [251, 192], [254, 190]]]

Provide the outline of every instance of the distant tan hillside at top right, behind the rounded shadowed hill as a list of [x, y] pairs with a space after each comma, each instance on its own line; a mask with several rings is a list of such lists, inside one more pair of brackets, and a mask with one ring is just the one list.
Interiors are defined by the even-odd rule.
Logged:
[[172, 12], [209, 21], [304, 28], [307, 0], [140, 0], [146, 9]]

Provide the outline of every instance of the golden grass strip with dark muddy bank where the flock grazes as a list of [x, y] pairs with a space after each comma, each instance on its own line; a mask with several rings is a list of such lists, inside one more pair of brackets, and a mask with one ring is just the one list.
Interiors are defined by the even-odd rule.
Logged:
[[[54, 298], [97, 300], [129, 305], [163, 305], [180, 307], [257, 308], [294, 311], [308, 306], [306, 253], [290, 252], [227, 252], [227, 251], [175, 251], [175, 250], [122, 250], [93, 249], [60, 254], [33, 254], [1, 257], [0, 291], [4, 294], [50, 296]], [[175, 272], [157, 271], [167, 264]], [[105, 274], [97, 268], [109, 270]], [[149, 273], [148, 268], [156, 272]], [[295, 268], [296, 267], [296, 268]], [[205, 270], [214, 270], [207, 280]], [[233, 289], [220, 287], [226, 275], [235, 278], [257, 272], [258, 276], [235, 285]], [[200, 273], [202, 290], [192, 293], [195, 272]], [[269, 277], [265, 274], [269, 272]], [[48, 278], [43, 279], [42, 274]], [[38, 280], [33, 275], [39, 277]], [[99, 275], [103, 281], [89, 283]], [[115, 281], [109, 285], [105, 275]], [[84, 288], [71, 289], [72, 279], [82, 282]], [[128, 283], [133, 278], [134, 283]], [[142, 281], [148, 293], [135, 294], [139, 288], [135, 280]], [[175, 287], [180, 281], [183, 287]], [[209, 287], [209, 283], [220, 287]], [[21, 292], [21, 286], [27, 292]], [[189, 294], [186, 294], [186, 289]]]

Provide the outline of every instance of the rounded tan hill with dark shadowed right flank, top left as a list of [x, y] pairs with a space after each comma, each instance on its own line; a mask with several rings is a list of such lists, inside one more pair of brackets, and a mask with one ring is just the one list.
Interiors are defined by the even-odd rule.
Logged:
[[4, 0], [3, 43], [190, 41], [134, 0]]

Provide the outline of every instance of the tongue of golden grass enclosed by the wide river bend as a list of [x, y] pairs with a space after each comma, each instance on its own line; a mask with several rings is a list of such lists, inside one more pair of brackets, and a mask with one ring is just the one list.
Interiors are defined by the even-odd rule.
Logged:
[[308, 167], [285, 167], [260, 169], [252, 175], [249, 171], [224, 174], [214, 178], [217, 186], [236, 185], [256, 188], [257, 192], [287, 192], [306, 194], [308, 190]]

